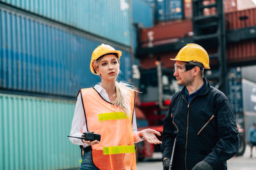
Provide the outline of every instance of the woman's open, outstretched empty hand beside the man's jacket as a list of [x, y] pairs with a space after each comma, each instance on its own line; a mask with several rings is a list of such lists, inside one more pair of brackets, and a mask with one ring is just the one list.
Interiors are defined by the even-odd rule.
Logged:
[[156, 134], [161, 136], [161, 134], [154, 129], [144, 129], [139, 132], [139, 136], [143, 137], [148, 143], [153, 143], [155, 145], [161, 144], [162, 142], [156, 138]]

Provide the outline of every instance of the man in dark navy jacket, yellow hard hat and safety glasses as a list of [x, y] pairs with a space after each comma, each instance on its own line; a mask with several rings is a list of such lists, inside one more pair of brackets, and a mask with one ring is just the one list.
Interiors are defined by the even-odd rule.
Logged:
[[172, 169], [227, 169], [238, 150], [236, 118], [227, 97], [204, 77], [209, 55], [188, 44], [175, 57], [173, 76], [184, 86], [174, 94], [163, 125], [163, 169], [168, 169], [175, 136]]

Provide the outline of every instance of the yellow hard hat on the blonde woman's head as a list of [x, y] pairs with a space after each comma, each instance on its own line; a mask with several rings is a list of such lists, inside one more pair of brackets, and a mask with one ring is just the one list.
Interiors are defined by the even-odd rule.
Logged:
[[122, 55], [121, 51], [115, 50], [115, 48], [113, 48], [110, 45], [102, 44], [100, 46], [97, 46], [97, 48], [95, 48], [95, 50], [93, 50], [92, 52], [92, 58], [90, 62], [90, 69], [93, 74], [97, 74], [93, 66], [94, 61], [99, 59], [102, 55], [106, 55], [108, 53], [116, 53], [116, 55], [118, 56], [118, 59], [120, 59], [120, 56]]

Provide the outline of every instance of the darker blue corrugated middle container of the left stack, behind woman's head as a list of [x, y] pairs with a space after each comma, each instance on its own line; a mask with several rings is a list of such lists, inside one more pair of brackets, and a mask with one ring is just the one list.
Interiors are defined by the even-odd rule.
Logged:
[[[3, 8], [0, 18], [1, 88], [74, 97], [100, 80], [89, 67], [99, 41]], [[128, 81], [131, 54], [122, 52], [120, 79]]]

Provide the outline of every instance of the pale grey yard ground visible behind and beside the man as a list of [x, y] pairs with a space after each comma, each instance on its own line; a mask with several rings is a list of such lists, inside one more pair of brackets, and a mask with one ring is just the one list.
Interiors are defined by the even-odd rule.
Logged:
[[[154, 154], [154, 159], [145, 162], [138, 162], [138, 170], [157, 170], [163, 169], [161, 153]], [[250, 158], [250, 147], [246, 146], [244, 155], [241, 157], [233, 157], [228, 160], [228, 170], [255, 170], [256, 169], [256, 151], [253, 148], [253, 157]]]

